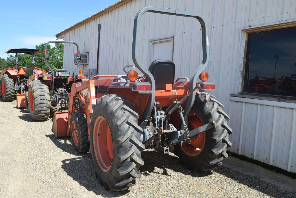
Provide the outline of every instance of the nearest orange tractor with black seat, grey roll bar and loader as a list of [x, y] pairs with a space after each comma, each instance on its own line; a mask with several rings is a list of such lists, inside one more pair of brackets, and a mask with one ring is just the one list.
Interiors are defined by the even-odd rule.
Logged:
[[[149, 69], [140, 62], [139, 30], [145, 12], [194, 17], [201, 23], [203, 60], [190, 80], [175, 81], [172, 61], [155, 60]], [[71, 136], [78, 152], [89, 151], [96, 176], [111, 191], [136, 184], [139, 167], [144, 165], [144, 149], [168, 154], [173, 146], [186, 167], [214, 169], [228, 157], [232, 130], [224, 106], [207, 93], [215, 90], [213, 82], [206, 82], [208, 74], [202, 72], [208, 52], [207, 24], [201, 15], [157, 7], [141, 9], [134, 21], [133, 69], [128, 71], [130, 66], [125, 66], [125, 75], [97, 75], [74, 83], [68, 112], [54, 115], [54, 135]], [[144, 75], [138, 75], [135, 67]]]

